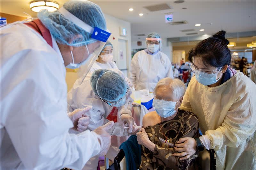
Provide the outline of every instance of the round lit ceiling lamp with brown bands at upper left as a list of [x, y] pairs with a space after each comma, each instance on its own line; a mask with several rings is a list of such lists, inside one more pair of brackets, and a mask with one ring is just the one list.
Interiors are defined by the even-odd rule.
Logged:
[[39, 12], [40, 10], [48, 10], [53, 12], [59, 9], [59, 4], [54, 1], [32, 1], [30, 3], [30, 9], [34, 12]]

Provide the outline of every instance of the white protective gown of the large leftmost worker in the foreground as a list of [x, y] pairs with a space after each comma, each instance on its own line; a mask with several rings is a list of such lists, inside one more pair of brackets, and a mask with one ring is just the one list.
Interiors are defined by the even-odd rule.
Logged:
[[0, 37], [0, 169], [82, 169], [100, 144], [89, 130], [68, 133], [60, 51], [21, 23], [2, 27]]

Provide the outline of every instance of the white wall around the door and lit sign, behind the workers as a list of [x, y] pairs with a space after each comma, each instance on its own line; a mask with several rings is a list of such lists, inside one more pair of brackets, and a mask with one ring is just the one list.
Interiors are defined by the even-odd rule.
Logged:
[[[130, 71], [130, 65], [131, 65], [131, 60], [132, 60], [132, 48], [131, 48], [131, 23], [127, 21], [123, 21], [121, 19], [109, 16], [107, 14], [104, 14], [107, 22], [107, 28], [108, 30], [112, 33], [109, 37], [109, 41], [113, 44], [113, 49], [114, 49], [114, 58], [113, 61], [116, 62], [117, 67], [119, 67], [119, 57], [117, 56], [117, 48], [118, 48], [118, 39], [126, 40], [127, 48], [126, 48], [126, 56], [127, 56], [127, 71], [123, 71], [124, 74], [129, 74]], [[126, 36], [121, 36], [120, 35], [120, 27], [126, 28], [127, 35]], [[113, 40], [113, 37], [115, 40]], [[127, 75], [129, 76], [129, 75]]]

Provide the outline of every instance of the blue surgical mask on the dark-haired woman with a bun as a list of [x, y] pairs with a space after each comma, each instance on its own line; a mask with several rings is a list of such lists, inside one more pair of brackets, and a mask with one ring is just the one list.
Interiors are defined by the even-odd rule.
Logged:
[[216, 83], [217, 81], [220, 80], [220, 78], [217, 79], [218, 73], [216, 73], [216, 74], [208, 74], [208, 73], [205, 73], [203, 71], [200, 71], [197, 74], [195, 73], [195, 75], [196, 75], [196, 80], [199, 83], [201, 83], [202, 85], [212, 85], [212, 84], [214, 84], [214, 83]]

